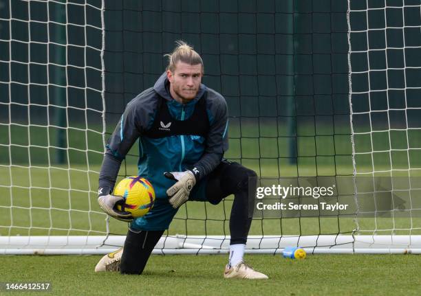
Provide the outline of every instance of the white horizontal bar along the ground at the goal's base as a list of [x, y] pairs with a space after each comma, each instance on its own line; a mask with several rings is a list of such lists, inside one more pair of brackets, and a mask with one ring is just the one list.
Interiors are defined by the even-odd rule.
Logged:
[[[111, 253], [125, 236], [15, 236], [0, 238], [3, 255], [89, 255]], [[226, 254], [224, 236], [163, 236], [153, 254]], [[420, 254], [421, 236], [249, 236], [246, 253], [276, 255], [285, 247], [300, 246], [312, 254]], [[312, 247], [306, 247], [312, 246]]]

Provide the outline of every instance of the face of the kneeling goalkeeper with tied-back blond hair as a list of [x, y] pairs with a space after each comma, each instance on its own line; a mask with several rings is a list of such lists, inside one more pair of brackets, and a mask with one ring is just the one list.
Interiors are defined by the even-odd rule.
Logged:
[[[173, 72], [166, 71], [170, 82], [171, 95], [183, 104], [193, 100], [199, 91], [202, 82], [202, 65], [189, 65], [185, 62], [177, 62]], [[178, 97], [178, 98], [177, 98]]]

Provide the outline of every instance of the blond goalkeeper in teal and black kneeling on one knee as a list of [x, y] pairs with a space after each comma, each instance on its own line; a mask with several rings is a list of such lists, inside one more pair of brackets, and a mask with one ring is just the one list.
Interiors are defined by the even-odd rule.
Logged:
[[[253, 206], [249, 205], [248, 188], [255, 191], [257, 177], [239, 163], [223, 159], [228, 149], [225, 99], [201, 83], [204, 65], [192, 47], [179, 41], [167, 56], [166, 72], [154, 87], [127, 104], [109, 138], [100, 170], [98, 203], [107, 214], [130, 221], [130, 225], [122, 251], [105, 255], [95, 270], [142, 273], [183, 203], [208, 201], [216, 205], [234, 194], [224, 277], [268, 278], [243, 260]], [[138, 174], [151, 181], [156, 198], [148, 214], [132, 219], [127, 212], [114, 209], [122, 197], [111, 192], [120, 164], [137, 139]]]

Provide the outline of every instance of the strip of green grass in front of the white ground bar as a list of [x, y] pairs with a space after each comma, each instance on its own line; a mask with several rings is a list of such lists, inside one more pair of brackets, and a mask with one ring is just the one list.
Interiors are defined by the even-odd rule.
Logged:
[[[226, 255], [152, 255], [142, 275], [94, 273], [98, 255], [1, 257], [1, 282], [50, 282], [34, 295], [420, 295], [419, 255], [246, 255], [269, 280], [225, 280]], [[4, 272], [7, 271], [7, 272]], [[8, 295], [4, 290], [1, 295]], [[10, 295], [28, 295], [11, 293]]]

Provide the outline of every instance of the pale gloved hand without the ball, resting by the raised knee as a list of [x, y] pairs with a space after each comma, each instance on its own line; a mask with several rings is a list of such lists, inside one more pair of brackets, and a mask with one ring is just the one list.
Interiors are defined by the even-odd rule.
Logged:
[[196, 184], [195, 175], [193, 172], [186, 170], [185, 172], [164, 172], [164, 176], [178, 181], [169, 187], [169, 190], [166, 190], [166, 195], [170, 198], [169, 202], [174, 209], [177, 209], [188, 200], [188, 195]]

